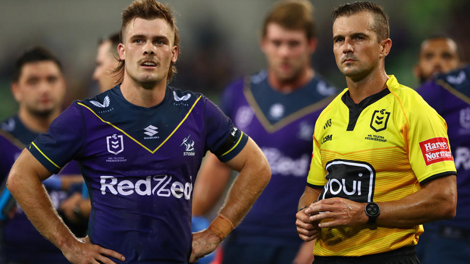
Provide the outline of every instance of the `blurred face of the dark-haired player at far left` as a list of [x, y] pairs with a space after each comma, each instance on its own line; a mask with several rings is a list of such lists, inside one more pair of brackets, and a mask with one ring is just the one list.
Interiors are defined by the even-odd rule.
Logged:
[[65, 81], [53, 61], [26, 63], [18, 82], [12, 85], [13, 96], [32, 114], [47, 116], [60, 108], [65, 95]]

